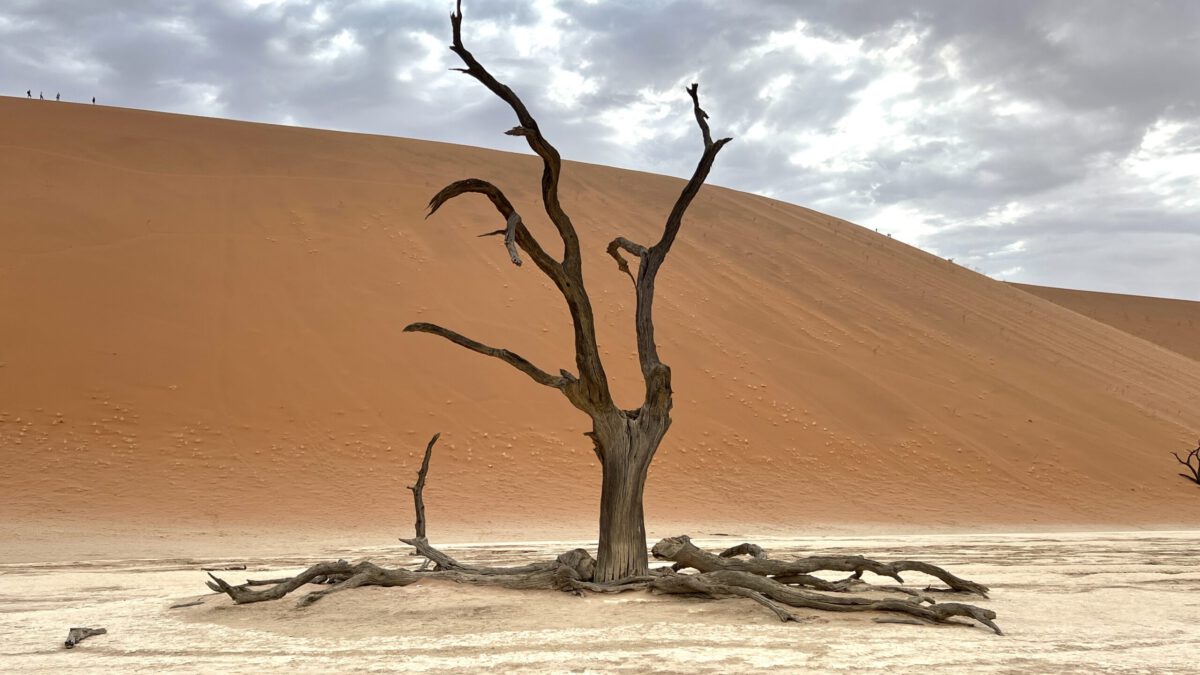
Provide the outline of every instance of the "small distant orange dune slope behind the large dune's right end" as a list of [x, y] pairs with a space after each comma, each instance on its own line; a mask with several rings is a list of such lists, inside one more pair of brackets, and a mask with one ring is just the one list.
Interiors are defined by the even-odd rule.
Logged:
[[1200, 360], [1200, 303], [1025, 283], [1013, 283], [1013, 286], [1172, 352]]

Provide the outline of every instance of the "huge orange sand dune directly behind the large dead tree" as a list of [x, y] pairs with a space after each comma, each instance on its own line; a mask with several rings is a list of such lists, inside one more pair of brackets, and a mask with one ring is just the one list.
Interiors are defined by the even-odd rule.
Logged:
[[[535, 157], [13, 98], [0, 119], [5, 522], [402, 533], [404, 486], [442, 431], [431, 532], [593, 536], [588, 420], [497, 360], [401, 333], [432, 321], [572, 365], [550, 282], [475, 238], [500, 225], [485, 199], [422, 220], [443, 184], [485, 178], [557, 250]], [[604, 247], [652, 240], [680, 186], [565, 167], [626, 405], [632, 292]], [[676, 423], [650, 472], [652, 536], [1200, 524], [1168, 454], [1200, 434], [1192, 358], [718, 187], [658, 286]]]

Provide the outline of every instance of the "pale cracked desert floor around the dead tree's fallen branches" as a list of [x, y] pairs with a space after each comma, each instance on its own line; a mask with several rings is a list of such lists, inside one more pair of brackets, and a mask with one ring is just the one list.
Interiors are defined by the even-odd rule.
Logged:
[[[47, 538], [53, 543], [54, 538]], [[742, 537], [697, 539], [708, 548]], [[730, 673], [762, 668], [924, 673], [1194, 671], [1200, 641], [1200, 531], [758, 539], [772, 555], [818, 550], [928, 560], [991, 586], [1006, 635], [978, 627], [875, 623], [883, 615], [811, 613], [780, 623], [748, 601], [628, 593], [575, 598], [421, 583], [358, 589], [299, 610], [293, 601], [235, 607], [204, 590], [199, 567], [244, 562], [278, 575], [323, 558], [409, 565], [403, 546], [347, 549], [287, 539], [210, 542], [235, 557], [122, 557], [116, 539], [64, 558], [26, 540], [0, 554], [0, 663], [11, 673], [554, 671]], [[114, 544], [116, 542], [116, 544]], [[193, 539], [192, 542], [199, 542]], [[462, 560], [541, 558], [578, 542], [444, 546]], [[176, 546], [188, 546], [178, 539]], [[238, 558], [239, 550], [276, 551]], [[229, 555], [227, 554], [227, 555]], [[98, 555], [98, 554], [97, 554]], [[923, 587], [926, 579], [906, 581]], [[203, 599], [204, 604], [169, 609]], [[107, 635], [62, 649], [71, 626]]]

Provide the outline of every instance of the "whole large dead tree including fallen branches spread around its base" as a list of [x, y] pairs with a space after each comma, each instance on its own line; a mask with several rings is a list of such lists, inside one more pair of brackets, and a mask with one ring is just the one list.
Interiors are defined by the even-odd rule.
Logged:
[[[467, 179], [448, 185], [430, 202], [430, 214], [460, 195], [474, 192], [491, 199], [504, 219], [505, 226], [490, 234], [504, 235], [509, 257], [515, 264], [521, 264], [521, 251], [524, 251], [563, 294], [575, 328], [577, 372], [559, 370], [558, 375], [551, 375], [508, 350], [476, 342], [431, 323], [414, 323], [406, 330], [439, 335], [473, 352], [498, 358], [534, 382], [558, 389], [575, 407], [592, 418], [593, 425], [588, 436], [604, 467], [599, 555], [593, 558], [588, 551], [575, 549], [552, 561], [522, 567], [481, 567], [460, 562], [434, 548], [426, 537], [424, 502], [430, 456], [438, 440], [434, 435], [425, 448], [416, 483], [410, 488], [416, 514], [414, 537], [402, 539], [425, 558], [425, 565], [420, 569], [389, 569], [371, 561], [350, 563], [340, 560], [314, 565], [295, 577], [246, 580], [240, 585], [229, 584], [209, 574], [211, 578], [208, 581], [209, 589], [229, 596], [235, 604], [246, 604], [278, 599], [312, 584], [324, 585], [302, 596], [300, 607], [307, 607], [330, 593], [358, 586], [407, 586], [426, 579], [516, 590], [558, 590], [574, 595], [646, 590], [689, 597], [746, 598], [769, 609], [780, 621], [811, 619], [797, 614], [796, 609], [880, 611], [906, 615], [886, 621], [910, 623], [961, 623], [956, 619], [965, 617], [1000, 634], [1000, 627], [994, 621], [996, 613], [992, 610], [958, 602], [938, 603], [932, 598], [935, 592], [988, 597], [986, 586], [961, 579], [925, 562], [880, 562], [862, 556], [779, 560], [770, 557], [767, 551], [752, 543], [732, 546], [714, 555], [697, 548], [688, 537], [680, 536], [662, 539], [653, 549], [655, 558], [673, 566], [649, 568], [642, 518], [642, 489], [647, 468], [671, 425], [671, 369], [659, 359], [654, 342], [654, 280], [679, 233], [684, 211], [708, 175], [716, 154], [730, 139], [713, 141], [706, 121], [708, 115], [700, 107], [697, 86], [691, 85], [688, 94], [691, 96], [696, 123], [703, 136], [704, 151], [691, 180], [683, 189], [667, 217], [662, 237], [652, 246], [635, 244], [623, 237], [618, 237], [608, 245], [607, 252], [616, 259], [617, 267], [634, 280], [637, 297], [635, 319], [637, 352], [646, 384], [642, 405], [635, 410], [620, 410], [608, 392], [608, 381], [596, 347], [592, 304], [583, 286], [578, 237], [558, 202], [562, 163], [558, 151], [542, 137], [538, 123], [512, 90], [497, 82], [463, 47], [461, 6], [457, 6], [451, 14], [450, 23], [454, 29], [451, 49], [467, 65], [460, 70], [509, 103], [520, 123], [509, 133], [524, 137], [542, 160], [542, 201], [546, 215], [563, 240], [563, 259], [552, 257], [542, 249], [526, 228], [508, 197], [487, 181]], [[623, 252], [640, 259], [636, 276], [630, 270]], [[742, 560], [739, 556], [749, 558]], [[428, 568], [430, 563], [432, 569]], [[830, 572], [848, 573], [848, 577], [833, 580], [818, 577], [821, 573]], [[904, 586], [872, 585], [864, 580], [865, 574], [874, 574], [902, 584], [900, 574], [907, 572], [931, 575], [944, 583], [946, 587], [917, 591]], [[868, 591], [872, 595], [862, 595]], [[896, 597], [888, 597], [889, 595]]]

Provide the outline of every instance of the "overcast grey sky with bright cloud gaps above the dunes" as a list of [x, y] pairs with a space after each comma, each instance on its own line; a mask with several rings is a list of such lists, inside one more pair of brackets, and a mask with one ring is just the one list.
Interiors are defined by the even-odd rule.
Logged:
[[[0, 90], [528, 151], [443, 0], [4, 0]], [[1200, 300], [1200, 1], [480, 0], [566, 159], [710, 181], [996, 279]], [[570, 205], [568, 204], [568, 208]]]

